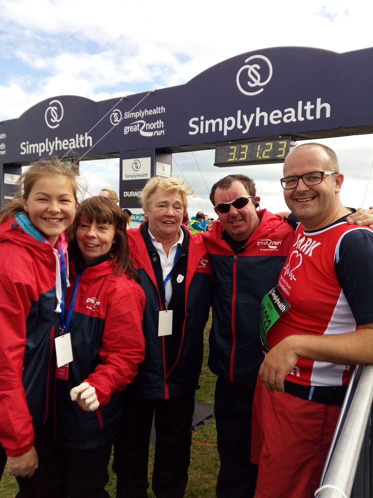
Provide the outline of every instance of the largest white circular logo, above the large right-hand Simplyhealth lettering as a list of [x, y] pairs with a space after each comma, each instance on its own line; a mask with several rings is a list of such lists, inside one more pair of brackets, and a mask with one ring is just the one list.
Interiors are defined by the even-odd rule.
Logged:
[[[253, 59], [259, 59], [258, 63], [256, 64], [247, 64], [249, 61], [252, 61]], [[259, 90], [251, 91], [251, 88], [255, 87], [263, 87], [266, 85], [269, 80], [272, 78], [272, 65], [265, 56], [260, 56], [260, 55], [255, 55], [251, 56], [248, 59], [245, 60], [245, 66], [242, 66], [235, 78], [238, 90], [242, 92], [245, 95], [257, 95], [260, 92], [263, 91], [263, 88], [260, 88]], [[264, 64], [265, 63], [265, 64]], [[246, 75], [246, 78], [241, 75]], [[261, 81], [261, 78], [265, 78], [263, 81]], [[243, 80], [243, 81], [242, 81]], [[243, 83], [243, 85], [242, 85]], [[242, 88], [242, 87], [247, 88]]]

